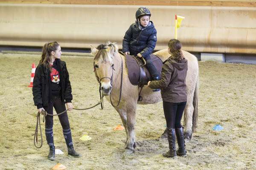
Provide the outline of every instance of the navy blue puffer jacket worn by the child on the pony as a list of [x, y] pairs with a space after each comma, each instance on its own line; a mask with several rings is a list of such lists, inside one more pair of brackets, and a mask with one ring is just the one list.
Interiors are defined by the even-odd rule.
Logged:
[[140, 53], [145, 59], [150, 59], [156, 43], [157, 30], [154, 28], [152, 21], [149, 21], [147, 27], [139, 26], [139, 23], [131, 24], [125, 32], [125, 37], [122, 42], [122, 51], [130, 52], [131, 55], [137, 56]]

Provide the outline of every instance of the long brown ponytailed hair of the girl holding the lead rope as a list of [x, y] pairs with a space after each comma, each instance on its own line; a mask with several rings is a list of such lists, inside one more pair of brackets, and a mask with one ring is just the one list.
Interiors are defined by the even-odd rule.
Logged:
[[51, 62], [51, 52], [56, 51], [58, 49], [58, 42], [49, 42], [45, 43], [42, 51], [41, 60], [39, 61], [39, 64], [44, 65], [45, 68], [48, 68], [51, 70], [50, 62]]

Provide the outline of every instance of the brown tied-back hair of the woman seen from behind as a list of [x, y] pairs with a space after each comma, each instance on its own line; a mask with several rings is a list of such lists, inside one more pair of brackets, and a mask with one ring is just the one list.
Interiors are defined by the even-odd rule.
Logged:
[[175, 59], [177, 62], [184, 58], [182, 51], [181, 51], [181, 42], [176, 39], [172, 39], [168, 42], [168, 47], [170, 52], [172, 53], [171, 58]]

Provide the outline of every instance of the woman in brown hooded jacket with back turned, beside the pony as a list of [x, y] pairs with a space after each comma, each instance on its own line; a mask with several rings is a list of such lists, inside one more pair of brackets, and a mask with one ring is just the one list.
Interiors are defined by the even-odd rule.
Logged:
[[[171, 57], [163, 62], [162, 77], [158, 81], [149, 81], [148, 87], [161, 89], [169, 142], [169, 151], [163, 153], [163, 156], [186, 156], [184, 133], [180, 121], [187, 102], [186, 74], [188, 62], [180, 50], [181, 43], [179, 40], [170, 40], [168, 46], [168, 52]], [[177, 151], [175, 149], [175, 133], [179, 146]]]

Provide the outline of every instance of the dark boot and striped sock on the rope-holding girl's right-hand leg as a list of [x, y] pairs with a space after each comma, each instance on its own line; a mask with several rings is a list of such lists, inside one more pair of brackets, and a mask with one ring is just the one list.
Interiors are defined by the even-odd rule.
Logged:
[[77, 153], [76, 150], [73, 147], [73, 142], [72, 142], [72, 136], [71, 136], [71, 130], [67, 129], [64, 130], [63, 129], [63, 135], [67, 144], [67, 154], [74, 156], [74, 157], [80, 157], [81, 154]]

